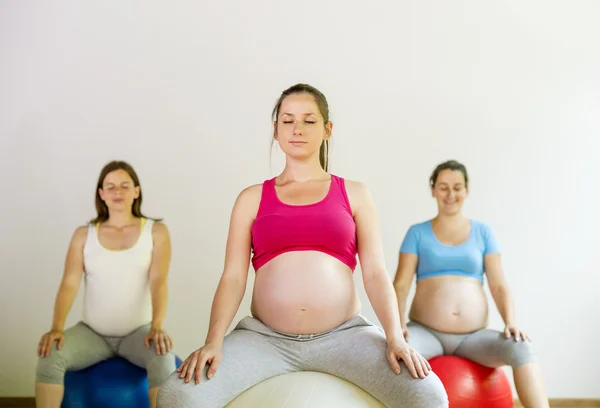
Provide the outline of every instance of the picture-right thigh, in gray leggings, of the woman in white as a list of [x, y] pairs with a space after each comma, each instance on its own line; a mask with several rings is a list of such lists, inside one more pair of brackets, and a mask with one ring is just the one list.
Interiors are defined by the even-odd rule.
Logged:
[[146, 347], [144, 338], [150, 331], [150, 325], [145, 325], [125, 336], [117, 353], [131, 363], [146, 369], [150, 387], [157, 387], [175, 371], [175, 355], [173, 353], [158, 354], [154, 344]]

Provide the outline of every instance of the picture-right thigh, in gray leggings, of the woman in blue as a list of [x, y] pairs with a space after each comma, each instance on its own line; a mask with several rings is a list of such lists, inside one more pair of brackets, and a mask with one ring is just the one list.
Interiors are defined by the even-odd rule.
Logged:
[[454, 355], [486, 367], [510, 365], [516, 368], [535, 359], [531, 342], [515, 341], [514, 337], [507, 339], [503, 332], [491, 329], [468, 335]]

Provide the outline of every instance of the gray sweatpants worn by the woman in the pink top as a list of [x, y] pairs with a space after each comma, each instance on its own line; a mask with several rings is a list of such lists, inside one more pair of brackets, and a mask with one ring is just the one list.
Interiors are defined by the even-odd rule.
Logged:
[[157, 408], [222, 408], [271, 377], [318, 371], [347, 380], [390, 408], [446, 408], [448, 397], [435, 373], [413, 378], [406, 365], [394, 373], [383, 330], [360, 315], [322, 334], [279, 333], [253, 317], [225, 336], [223, 360], [208, 380], [186, 383], [173, 373], [158, 393]]

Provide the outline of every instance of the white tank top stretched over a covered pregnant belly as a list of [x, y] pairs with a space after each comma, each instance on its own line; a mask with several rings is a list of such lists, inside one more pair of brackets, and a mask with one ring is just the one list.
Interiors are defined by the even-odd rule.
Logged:
[[142, 218], [140, 237], [126, 250], [104, 248], [98, 240], [97, 227], [88, 227], [83, 248], [83, 321], [103, 336], [125, 336], [152, 322], [148, 275], [153, 224]]

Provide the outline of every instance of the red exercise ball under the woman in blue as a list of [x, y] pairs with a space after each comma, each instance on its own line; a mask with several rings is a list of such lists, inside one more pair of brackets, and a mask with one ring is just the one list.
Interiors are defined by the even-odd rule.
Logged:
[[501, 369], [456, 356], [435, 357], [429, 364], [444, 384], [450, 408], [513, 408], [512, 389]]

